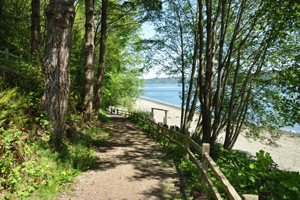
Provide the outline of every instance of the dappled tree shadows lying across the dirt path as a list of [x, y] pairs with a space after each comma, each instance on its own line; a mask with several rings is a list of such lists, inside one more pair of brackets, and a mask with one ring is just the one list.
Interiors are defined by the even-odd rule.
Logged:
[[[176, 191], [178, 194], [179, 190], [180, 195], [185, 196], [185, 192], [181, 189], [183, 179], [180, 178], [175, 164], [166, 158], [154, 139], [144, 134], [136, 124], [123, 116], [111, 115], [111, 120], [112, 132], [107, 144], [95, 149], [100, 161], [98, 166], [91, 170], [105, 171], [121, 165], [132, 165], [134, 173], [126, 175], [124, 177], [126, 181], [135, 184], [142, 179], [155, 179], [160, 182], [159, 185], [149, 186], [143, 195], [165, 199], [164, 190], [167, 190], [166, 193], [171, 196], [176, 195]], [[115, 153], [120, 148], [121, 152]]]

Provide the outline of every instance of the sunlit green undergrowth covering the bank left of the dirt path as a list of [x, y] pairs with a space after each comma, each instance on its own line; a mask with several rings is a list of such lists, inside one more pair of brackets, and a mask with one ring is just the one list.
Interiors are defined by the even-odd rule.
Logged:
[[81, 171], [97, 164], [95, 146], [108, 137], [102, 128], [109, 121], [104, 112], [87, 126], [73, 111], [66, 119], [63, 144], [54, 151], [49, 120], [38, 106], [35, 93], [23, 94], [18, 88], [0, 92], [1, 199], [55, 198]]

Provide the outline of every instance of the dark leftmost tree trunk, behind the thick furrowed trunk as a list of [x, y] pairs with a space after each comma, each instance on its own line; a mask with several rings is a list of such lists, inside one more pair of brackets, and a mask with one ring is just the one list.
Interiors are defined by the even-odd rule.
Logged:
[[39, 0], [31, 0], [31, 48], [30, 55], [33, 55], [35, 63], [39, 63], [40, 58], [40, 12]]

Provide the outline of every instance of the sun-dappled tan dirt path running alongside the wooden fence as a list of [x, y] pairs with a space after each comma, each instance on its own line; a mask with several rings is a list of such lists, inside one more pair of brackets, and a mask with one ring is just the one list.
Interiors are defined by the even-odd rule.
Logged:
[[179, 173], [155, 141], [127, 118], [111, 118], [108, 144], [96, 153], [99, 167], [80, 175], [74, 190], [57, 199], [181, 199]]

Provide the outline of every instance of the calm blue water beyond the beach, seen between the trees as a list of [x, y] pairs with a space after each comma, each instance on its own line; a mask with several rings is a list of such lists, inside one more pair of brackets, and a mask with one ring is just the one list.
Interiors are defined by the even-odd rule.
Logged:
[[[145, 84], [144, 86], [145, 94], [140, 96], [141, 98], [181, 107], [181, 99], [179, 98], [181, 87], [177, 84]], [[281, 130], [294, 130], [296, 133], [300, 133], [300, 126], [283, 127]]]

